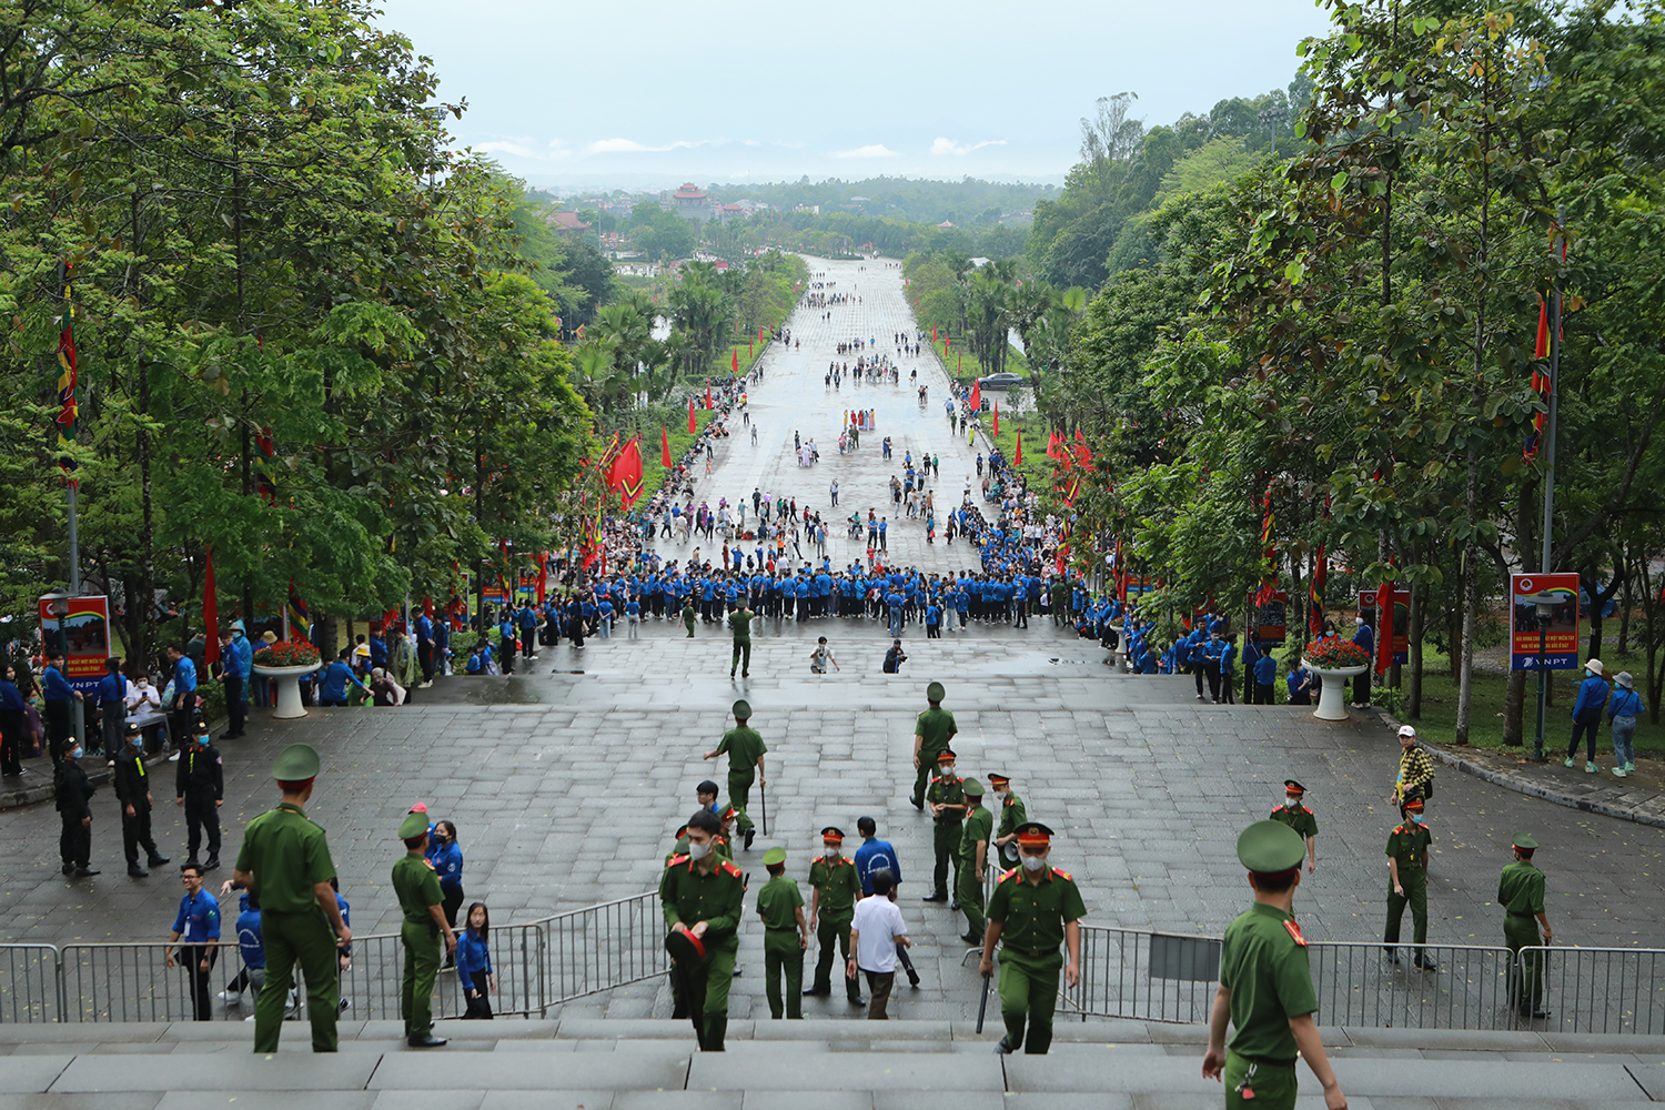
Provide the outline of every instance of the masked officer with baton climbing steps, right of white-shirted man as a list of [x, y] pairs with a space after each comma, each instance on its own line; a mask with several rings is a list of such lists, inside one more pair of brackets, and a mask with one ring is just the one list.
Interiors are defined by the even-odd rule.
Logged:
[[[1081, 982], [1081, 925], [1087, 907], [1067, 870], [1047, 864], [1052, 830], [1027, 820], [1016, 830], [1021, 864], [994, 885], [989, 899], [989, 932], [982, 939], [982, 964], [994, 969], [994, 945], [1001, 945], [1001, 1018], [1006, 1035], [996, 1052], [1044, 1053], [1052, 1047], [1052, 1012], [1057, 1008], [1057, 972], [1064, 982]], [[1069, 964], [1057, 945], [1069, 950]], [[1024, 1040], [1024, 1025], [1029, 1038]]]

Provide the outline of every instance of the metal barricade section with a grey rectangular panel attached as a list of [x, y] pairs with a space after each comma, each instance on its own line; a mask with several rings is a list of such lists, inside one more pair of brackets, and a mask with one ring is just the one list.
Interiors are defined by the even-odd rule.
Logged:
[[1219, 980], [1219, 937], [1081, 925], [1081, 982], [1061, 982], [1059, 1008], [1084, 1020], [1207, 1022]]

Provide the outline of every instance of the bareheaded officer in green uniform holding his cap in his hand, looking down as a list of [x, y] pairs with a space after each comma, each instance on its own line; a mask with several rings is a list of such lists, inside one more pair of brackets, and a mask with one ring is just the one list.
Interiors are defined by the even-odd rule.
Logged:
[[664, 924], [676, 939], [666, 937], [666, 949], [683, 977], [683, 997], [701, 1052], [723, 1052], [746, 895], [741, 869], [716, 855], [716, 834], [718, 817], [709, 809], [689, 817], [688, 855], [673, 857], [659, 877]]

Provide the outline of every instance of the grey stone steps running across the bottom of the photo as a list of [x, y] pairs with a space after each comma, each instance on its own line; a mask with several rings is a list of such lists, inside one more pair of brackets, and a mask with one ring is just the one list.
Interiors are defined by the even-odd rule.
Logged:
[[[411, 1050], [396, 1022], [306, 1025], [250, 1053], [243, 1022], [0, 1027], [5, 1110], [1185, 1110], [1219, 1107], [1205, 1030], [1061, 1022], [1047, 1057], [999, 1057], [992, 1023], [734, 1020], [699, 1053], [686, 1022], [579, 1017], [446, 1022]], [[1325, 1028], [1350, 1105], [1510, 1110], [1665, 1102], [1665, 1037]], [[1302, 1067], [1302, 1110], [1324, 1105]]]

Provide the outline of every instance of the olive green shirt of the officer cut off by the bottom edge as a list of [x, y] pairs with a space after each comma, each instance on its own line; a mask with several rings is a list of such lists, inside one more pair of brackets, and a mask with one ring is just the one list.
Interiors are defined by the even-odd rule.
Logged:
[[1319, 1008], [1295, 919], [1264, 902], [1239, 914], [1220, 945], [1220, 985], [1232, 995], [1235, 1032], [1227, 1047], [1240, 1057], [1294, 1063], [1289, 1018]]

